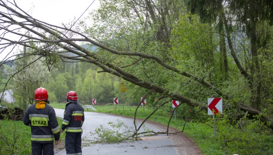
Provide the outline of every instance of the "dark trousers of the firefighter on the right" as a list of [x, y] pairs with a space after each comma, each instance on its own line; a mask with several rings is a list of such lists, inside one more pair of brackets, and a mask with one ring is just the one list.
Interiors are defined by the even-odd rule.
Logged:
[[82, 154], [82, 139], [81, 133], [66, 132], [66, 154], [80, 155]]

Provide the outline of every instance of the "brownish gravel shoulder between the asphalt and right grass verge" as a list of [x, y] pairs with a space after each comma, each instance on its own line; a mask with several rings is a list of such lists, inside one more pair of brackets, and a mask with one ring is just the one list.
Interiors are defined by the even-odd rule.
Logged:
[[[115, 114], [109, 114], [109, 113], [105, 113], [105, 114], [134, 119], [132, 117], [127, 117], [123, 115], [115, 115]], [[144, 119], [136, 119], [136, 121], [144, 121]], [[153, 121], [148, 121], [148, 120], [146, 122], [150, 125], [155, 126], [160, 131], [167, 131], [166, 125], [162, 125], [162, 124], [155, 123]], [[180, 131], [177, 129], [174, 129], [173, 127], [169, 127], [169, 133], [174, 133], [174, 132], [180, 132]], [[168, 147], [174, 147], [176, 149], [177, 154], [203, 155], [200, 149], [198, 148], [198, 146], [193, 142], [193, 140], [187, 135], [185, 135], [184, 133], [177, 133], [175, 135], [170, 135], [170, 139], [172, 140], [174, 145], [168, 146]]]

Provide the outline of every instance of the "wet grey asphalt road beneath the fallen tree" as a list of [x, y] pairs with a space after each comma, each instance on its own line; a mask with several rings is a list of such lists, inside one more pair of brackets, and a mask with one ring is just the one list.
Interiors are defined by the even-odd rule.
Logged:
[[[63, 117], [64, 110], [56, 109], [55, 112], [57, 116]], [[83, 134], [82, 138], [93, 139], [90, 136], [90, 132], [95, 131], [97, 127], [103, 125], [104, 128], [111, 129], [108, 122], [118, 123], [117, 120], [124, 122], [128, 126], [133, 125], [133, 119], [101, 114], [84, 112], [85, 121], [83, 124]], [[149, 128], [155, 132], [159, 131], [155, 126], [145, 123], [145, 127]], [[144, 131], [141, 128], [140, 132]], [[167, 135], [157, 135], [142, 137], [143, 140], [138, 140], [134, 142], [122, 142], [119, 144], [89, 144], [82, 148], [82, 154], [119, 154], [119, 155], [176, 155], [176, 149], [173, 147], [173, 142]], [[85, 142], [83, 142], [85, 143]], [[65, 150], [58, 152], [56, 155], [65, 155]]]

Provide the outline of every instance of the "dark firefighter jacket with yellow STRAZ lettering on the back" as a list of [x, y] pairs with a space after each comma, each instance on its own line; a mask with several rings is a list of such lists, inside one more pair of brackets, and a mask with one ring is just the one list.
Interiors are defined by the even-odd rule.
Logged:
[[25, 125], [31, 126], [32, 143], [53, 143], [60, 138], [60, 129], [54, 109], [45, 104], [45, 108], [37, 109], [36, 104], [26, 110], [23, 118]]

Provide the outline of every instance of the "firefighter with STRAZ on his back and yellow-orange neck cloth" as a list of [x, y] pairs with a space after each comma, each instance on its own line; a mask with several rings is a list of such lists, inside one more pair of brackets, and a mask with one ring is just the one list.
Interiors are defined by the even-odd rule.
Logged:
[[25, 125], [31, 127], [32, 155], [54, 154], [53, 140], [59, 143], [60, 129], [54, 109], [49, 106], [48, 94], [45, 88], [38, 88], [34, 98], [36, 104], [26, 110], [23, 117]]

